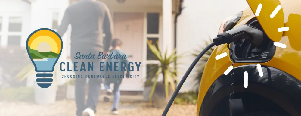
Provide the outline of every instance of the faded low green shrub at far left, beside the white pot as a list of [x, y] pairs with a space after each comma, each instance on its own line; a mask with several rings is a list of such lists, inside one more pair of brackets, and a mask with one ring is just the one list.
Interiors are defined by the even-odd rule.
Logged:
[[2, 88], [0, 100], [32, 102], [34, 100], [33, 87]]

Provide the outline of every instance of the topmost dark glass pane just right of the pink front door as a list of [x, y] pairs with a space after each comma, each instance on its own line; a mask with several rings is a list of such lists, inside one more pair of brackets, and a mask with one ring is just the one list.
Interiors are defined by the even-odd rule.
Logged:
[[147, 34], [159, 33], [159, 13], [147, 13]]

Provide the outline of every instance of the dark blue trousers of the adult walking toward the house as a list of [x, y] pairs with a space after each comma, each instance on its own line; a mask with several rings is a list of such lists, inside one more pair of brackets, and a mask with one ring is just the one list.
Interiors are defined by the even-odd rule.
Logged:
[[[92, 54], [95, 54], [95, 59], [76, 59], [76, 54], [79, 57], [79, 53], [81, 55], [88, 55], [91, 52]], [[78, 62], [76, 64], [77, 68], [74, 71], [76, 75], [82, 75], [82, 78], [75, 78], [75, 102], [76, 102], [76, 115], [82, 116], [82, 111], [86, 108], [91, 108], [96, 112], [96, 106], [98, 103], [98, 98], [100, 94], [100, 85], [102, 82], [102, 78], [86, 78], [86, 75], [101, 75], [102, 72], [99, 71], [99, 62], [101, 62], [101, 59], [97, 59], [98, 53], [103, 52], [102, 49], [72, 49], [71, 48], [71, 59], [72, 62]], [[91, 56], [90, 55], [90, 56]], [[74, 58], [75, 57], [75, 58]], [[86, 71], [80, 71], [82, 62], [85, 63]], [[93, 62], [93, 71], [88, 71], [88, 62]], [[85, 86], [86, 82], [88, 81], [88, 99], [85, 103]]]

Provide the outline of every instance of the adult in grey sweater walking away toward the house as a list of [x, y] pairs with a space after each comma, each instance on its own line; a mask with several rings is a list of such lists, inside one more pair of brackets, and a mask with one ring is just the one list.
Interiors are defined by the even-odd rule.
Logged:
[[[63, 36], [68, 25], [71, 24], [71, 58], [73, 62], [94, 62], [99, 64], [101, 59], [76, 59], [76, 53], [107, 54], [113, 33], [113, 23], [110, 11], [102, 2], [95, 0], [81, 0], [70, 5], [64, 14], [57, 33]], [[103, 33], [105, 37], [103, 38]], [[80, 65], [79, 65], [80, 66]], [[89, 78], [88, 99], [85, 103], [85, 75], [99, 74], [99, 67], [94, 65], [93, 72], [75, 71], [83, 78], [75, 79], [75, 101], [77, 116], [95, 116], [96, 106], [100, 94], [101, 78]]]

